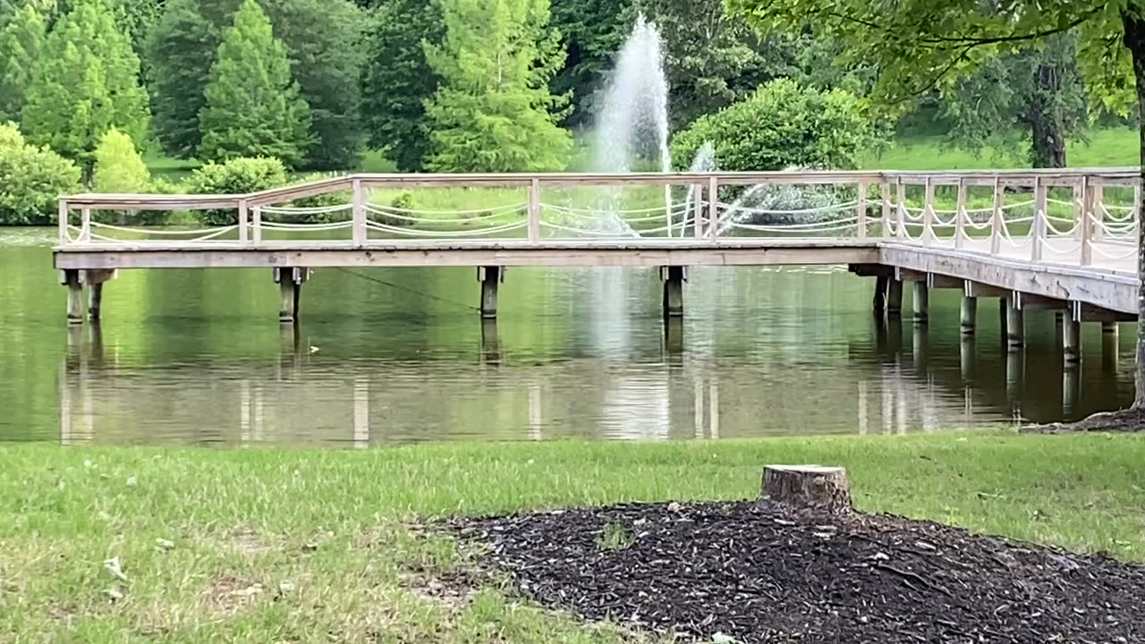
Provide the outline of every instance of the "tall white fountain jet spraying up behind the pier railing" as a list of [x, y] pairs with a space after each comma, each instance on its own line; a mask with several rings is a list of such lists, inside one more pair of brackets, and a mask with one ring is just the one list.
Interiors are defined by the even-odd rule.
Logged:
[[[664, 76], [663, 39], [641, 14], [616, 57], [616, 69], [605, 89], [603, 108], [597, 118], [594, 168], [600, 172], [631, 172], [635, 158], [658, 162], [661, 172], [672, 170], [668, 149], [668, 79]], [[602, 229], [631, 234], [617, 214], [619, 189], [609, 190], [601, 217]], [[664, 207], [671, 226], [672, 193], [664, 187]]]

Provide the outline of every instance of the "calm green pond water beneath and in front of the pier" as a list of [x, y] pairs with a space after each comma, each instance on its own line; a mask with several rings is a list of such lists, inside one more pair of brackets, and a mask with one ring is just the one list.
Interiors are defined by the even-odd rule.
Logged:
[[[69, 329], [50, 230], [0, 233], [0, 440], [381, 446], [426, 440], [900, 433], [1050, 422], [1132, 400], [1132, 328], [1051, 313], [1008, 354], [994, 300], [884, 325], [845, 268], [700, 268], [665, 327], [650, 269], [511, 268], [483, 324], [473, 269], [316, 270], [297, 328], [269, 269], [123, 272]], [[909, 311], [909, 296], [906, 303]]]

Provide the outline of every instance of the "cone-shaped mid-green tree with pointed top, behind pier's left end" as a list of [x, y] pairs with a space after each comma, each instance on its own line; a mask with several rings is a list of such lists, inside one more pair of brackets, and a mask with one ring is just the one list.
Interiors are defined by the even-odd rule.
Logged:
[[204, 158], [276, 157], [287, 166], [306, 158], [314, 141], [310, 110], [291, 78], [286, 48], [255, 0], [244, 0], [235, 14], [203, 94]]

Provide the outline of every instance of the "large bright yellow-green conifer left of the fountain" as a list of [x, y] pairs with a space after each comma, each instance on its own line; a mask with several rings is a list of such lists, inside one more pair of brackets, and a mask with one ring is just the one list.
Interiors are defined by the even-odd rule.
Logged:
[[556, 121], [568, 104], [548, 83], [562, 63], [548, 0], [440, 0], [441, 46], [426, 46], [441, 77], [427, 104], [444, 172], [562, 170], [571, 147]]

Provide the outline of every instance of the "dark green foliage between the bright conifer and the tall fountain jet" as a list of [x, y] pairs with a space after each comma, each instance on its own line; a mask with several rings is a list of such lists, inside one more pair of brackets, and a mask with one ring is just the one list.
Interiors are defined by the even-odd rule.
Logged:
[[553, 94], [571, 94], [572, 111], [566, 125], [591, 120], [594, 99], [635, 17], [633, 0], [559, 1], [552, 8], [553, 26], [561, 34], [568, 57], [551, 83]]

